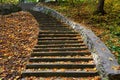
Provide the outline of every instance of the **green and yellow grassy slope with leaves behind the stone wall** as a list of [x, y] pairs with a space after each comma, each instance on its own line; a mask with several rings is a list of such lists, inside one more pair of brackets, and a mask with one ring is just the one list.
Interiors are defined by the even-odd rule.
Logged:
[[97, 1], [82, 0], [79, 2], [46, 3], [45, 5], [57, 10], [91, 29], [111, 50], [120, 63], [120, 1], [106, 0], [105, 15], [95, 15]]

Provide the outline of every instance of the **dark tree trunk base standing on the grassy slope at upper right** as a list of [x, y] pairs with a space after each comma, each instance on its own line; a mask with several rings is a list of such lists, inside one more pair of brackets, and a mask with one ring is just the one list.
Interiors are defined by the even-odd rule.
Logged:
[[97, 14], [104, 15], [106, 13], [105, 10], [104, 10], [104, 2], [105, 2], [105, 0], [99, 0], [97, 10], [96, 10]]

